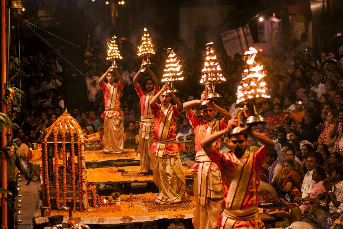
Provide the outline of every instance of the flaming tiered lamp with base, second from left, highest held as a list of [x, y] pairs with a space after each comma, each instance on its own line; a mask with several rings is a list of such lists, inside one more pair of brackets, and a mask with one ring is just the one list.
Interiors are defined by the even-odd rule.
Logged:
[[[149, 58], [155, 55], [154, 51], [154, 45], [152, 43], [152, 39], [148, 33], [148, 30], [144, 28], [142, 41], [140, 45], [138, 45], [138, 56], [141, 56], [143, 59], [145, 59], [143, 63], [143, 67], [150, 67], [152, 63], [150, 62]], [[141, 72], [143, 72], [145, 69], [142, 69]]]

